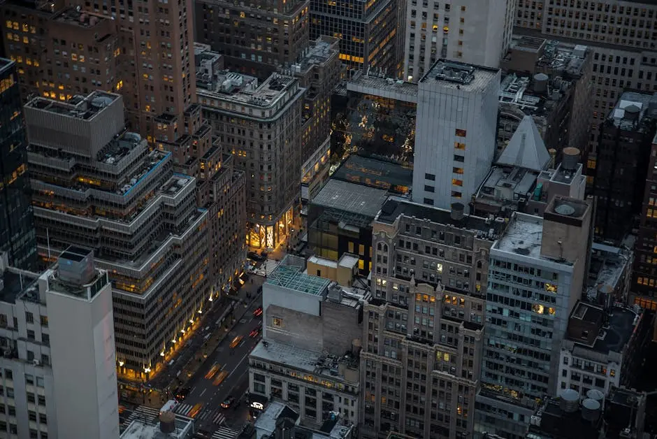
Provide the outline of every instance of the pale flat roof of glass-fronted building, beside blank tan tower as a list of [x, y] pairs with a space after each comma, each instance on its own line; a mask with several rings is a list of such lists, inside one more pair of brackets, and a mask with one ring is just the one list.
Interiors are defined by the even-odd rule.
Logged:
[[494, 247], [503, 252], [540, 259], [543, 219], [533, 215], [513, 215]]

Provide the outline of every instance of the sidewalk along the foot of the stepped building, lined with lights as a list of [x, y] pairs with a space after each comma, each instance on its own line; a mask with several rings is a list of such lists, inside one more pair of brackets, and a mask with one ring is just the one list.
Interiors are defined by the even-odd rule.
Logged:
[[[173, 392], [185, 387], [187, 382], [194, 378], [198, 369], [203, 366], [205, 358], [217, 349], [233, 326], [243, 317], [246, 312], [244, 305], [250, 305], [259, 299], [258, 290], [264, 281], [261, 276], [251, 275], [237, 294], [222, 296], [223, 301], [219, 301], [205, 315], [198, 325], [197, 333], [187, 342], [175, 363], [146, 383], [146, 394], [131, 395], [132, 397], [124, 398], [125, 401], [160, 408], [164, 402], [174, 398]], [[247, 298], [247, 294], [250, 294], [250, 298]], [[217, 326], [217, 322], [220, 326]], [[203, 329], [207, 327], [210, 329], [206, 332]]]

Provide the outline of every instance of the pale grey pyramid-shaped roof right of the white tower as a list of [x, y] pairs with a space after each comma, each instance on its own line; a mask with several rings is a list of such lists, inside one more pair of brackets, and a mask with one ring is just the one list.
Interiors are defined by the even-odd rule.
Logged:
[[533, 117], [522, 118], [511, 140], [498, 159], [498, 164], [519, 166], [542, 171], [550, 161], [545, 143], [538, 132]]

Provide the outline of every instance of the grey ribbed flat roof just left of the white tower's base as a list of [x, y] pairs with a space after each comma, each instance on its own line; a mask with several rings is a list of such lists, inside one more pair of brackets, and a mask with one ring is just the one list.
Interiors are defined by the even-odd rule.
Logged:
[[311, 203], [374, 218], [387, 196], [388, 192], [384, 189], [331, 178]]

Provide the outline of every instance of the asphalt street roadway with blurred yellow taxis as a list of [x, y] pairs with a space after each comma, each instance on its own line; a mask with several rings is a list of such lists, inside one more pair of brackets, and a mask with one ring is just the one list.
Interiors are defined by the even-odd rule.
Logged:
[[[248, 389], [248, 357], [260, 339], [260, 335], [250, 337], [250, 332], [262, 323], [261, 316], [253, 315], [261, 303], [261, 295], [257, 294], [250, 305], [245, 307], [240, 304], [236, 308], [234, 315], [238, 321], [235, 326], [217, 349], [208, 354], [203, 365], [187, 383], [187, 387], [191, 388], [189, 395], [174, 411], [180, 415], [194, 415], [197, 429], [215, 431], [221, 424], [234, 426], [246, 421], [248, 410], [243, 397]], [[237, 336], [243, 338], [236, 347], [231, 347], [231, 342]], [[206, 378], [205, 375], [216, 365], [219, 367], [215, 367], [215, 375]], [[220, 373], [226, 373], [226, 377], [221, 384], [215, 385], [214, 381]], [[221, 404], [229, 396], [236, 398], [236, 406], [224, 409]]]

